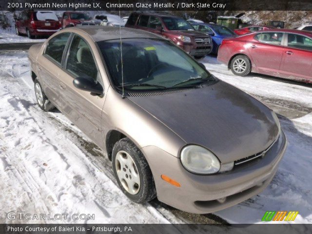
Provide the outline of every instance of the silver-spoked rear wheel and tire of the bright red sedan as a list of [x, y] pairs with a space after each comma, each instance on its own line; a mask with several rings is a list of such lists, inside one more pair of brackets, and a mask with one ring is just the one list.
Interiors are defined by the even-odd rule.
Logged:
[[240, 77], [247, 76], [252, 71], [252, 64], [249, 58], [245, 55], [234, 57], [231, 61], [230, 67], [233, 74]]

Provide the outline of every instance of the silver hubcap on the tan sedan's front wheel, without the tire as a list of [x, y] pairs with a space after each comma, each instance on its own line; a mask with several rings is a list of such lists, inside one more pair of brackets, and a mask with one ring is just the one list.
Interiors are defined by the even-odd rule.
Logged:
[[119, 151], [116, 155], [115, 166], [118, 179], [122, 187], [132, 195], [140, 190], [140, 176], [133, 158], [125, 151]]

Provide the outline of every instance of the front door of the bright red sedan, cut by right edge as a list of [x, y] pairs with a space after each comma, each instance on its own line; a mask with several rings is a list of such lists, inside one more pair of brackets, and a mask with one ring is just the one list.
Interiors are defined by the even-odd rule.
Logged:
[[312, 79], [312, 38], [287, 34], [282, 71], [285, 78]]

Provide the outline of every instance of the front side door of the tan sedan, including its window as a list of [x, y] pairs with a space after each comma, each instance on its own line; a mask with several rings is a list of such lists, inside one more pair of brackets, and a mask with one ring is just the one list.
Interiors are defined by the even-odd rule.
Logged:
[[61, 111], [98, 146], [103, 146], [101, 114], [104, 98], [80, 90], [74, 78], [91, 77], [102, 84], [97, 61], [86, 39], [74, 34], [59, 73]]

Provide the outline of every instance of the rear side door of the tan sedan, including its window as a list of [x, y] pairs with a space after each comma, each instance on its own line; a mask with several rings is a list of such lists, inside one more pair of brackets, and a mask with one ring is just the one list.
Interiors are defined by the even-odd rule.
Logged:
[[70, 33], [61, 33], [47, 42], [47, 45], [40, 58], [37, 59], [37, 74], [45, 95], [57, 107], [60, 107], [59, 100], [59, 72], [63, 54], [66, 49]]

